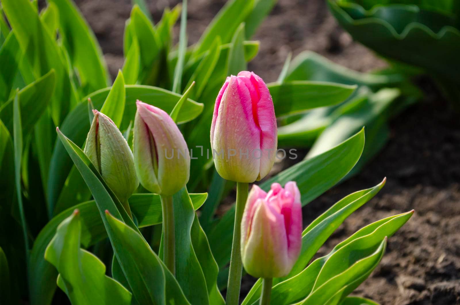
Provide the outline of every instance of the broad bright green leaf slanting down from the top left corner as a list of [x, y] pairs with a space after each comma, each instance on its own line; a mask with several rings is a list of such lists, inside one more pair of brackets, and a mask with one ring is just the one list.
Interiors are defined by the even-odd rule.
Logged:
[[34, 78], [37, 79], [52, 69], [56, 73], [56, 86], [50, 109], [54, 123], [59, 125], [70, 105], [77, 100], [75, 92], [71, 89], [68, 71], [59, 47], [40, 21], [29, 0], [2, 0], [2, 6], [14, 29], [19, 46], [32, 67]]

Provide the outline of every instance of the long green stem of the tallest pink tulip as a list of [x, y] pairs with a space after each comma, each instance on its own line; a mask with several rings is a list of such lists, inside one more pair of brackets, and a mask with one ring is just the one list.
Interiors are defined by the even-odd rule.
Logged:
[[227, 299], [225, 304], [237, 305], [240, 300], [240, 287], [242, 275], [241, 261], [241, 220], [243, 218], [244, 206], [247, 200], [249, 184], [236, 182], [236, 212], [235, 227], [233, 228], [233, 244], [231, 247], [229, 282], [227, 284]]

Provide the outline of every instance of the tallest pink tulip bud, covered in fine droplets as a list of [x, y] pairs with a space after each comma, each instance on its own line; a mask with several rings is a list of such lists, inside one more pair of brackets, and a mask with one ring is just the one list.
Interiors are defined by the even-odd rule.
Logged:
[[277, 141], [273, 100], [265, 82], [247, 71], [227, 77], [211, 125], [219, 175], [236, 182], [259, 181], [275, 163]]

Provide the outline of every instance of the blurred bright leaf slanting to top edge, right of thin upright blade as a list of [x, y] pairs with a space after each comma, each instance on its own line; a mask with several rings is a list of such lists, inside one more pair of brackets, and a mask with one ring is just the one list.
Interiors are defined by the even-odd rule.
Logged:
[[222, 43], [229, 43], [240, 23], [252, 11], [253, 6], [254, 0], [228, 1], [201, 36], [195, 50], [195, 56], [206, 52], [218, 36], [220, 36]]

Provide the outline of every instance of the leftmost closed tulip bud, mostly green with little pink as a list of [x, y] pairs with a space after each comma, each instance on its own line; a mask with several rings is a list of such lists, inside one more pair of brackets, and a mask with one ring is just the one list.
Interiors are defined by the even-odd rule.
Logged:
[[118, 200], [126, 203], [139, 185], [131, 149], [109, 117], [97, 110], [93, 113], [83, 151]]

